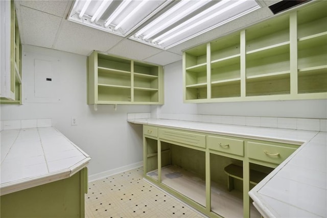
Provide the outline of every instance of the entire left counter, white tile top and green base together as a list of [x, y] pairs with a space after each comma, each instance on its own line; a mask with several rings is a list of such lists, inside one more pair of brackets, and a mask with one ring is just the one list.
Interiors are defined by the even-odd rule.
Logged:
[[2, 130], [1, 217], [84, 217], [90, 159], [53, 127]]

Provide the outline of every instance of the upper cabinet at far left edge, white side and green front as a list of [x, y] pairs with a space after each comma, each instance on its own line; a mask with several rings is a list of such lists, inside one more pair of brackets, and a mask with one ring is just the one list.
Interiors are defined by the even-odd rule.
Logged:
[[[14, 1], [1, 3], [1, 98], [0, 103], [22, 104], [21, 102], [21, 45]], [[4, 16], [3, 16], [4, 15]], [[2, 37], [3, 37], [2, 36]]]

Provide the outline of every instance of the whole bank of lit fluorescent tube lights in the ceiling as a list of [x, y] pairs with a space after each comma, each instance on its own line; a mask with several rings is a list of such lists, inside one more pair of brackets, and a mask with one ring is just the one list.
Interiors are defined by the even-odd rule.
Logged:
[[68, 20], [169, 49], [258, 8], [255, 0], [76, 0]]

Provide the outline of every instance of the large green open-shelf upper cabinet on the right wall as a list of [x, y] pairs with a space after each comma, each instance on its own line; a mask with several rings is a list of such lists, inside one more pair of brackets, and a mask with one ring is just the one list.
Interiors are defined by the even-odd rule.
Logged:
[[184, 102], [327, 98], [327, 1], [183, 52]]

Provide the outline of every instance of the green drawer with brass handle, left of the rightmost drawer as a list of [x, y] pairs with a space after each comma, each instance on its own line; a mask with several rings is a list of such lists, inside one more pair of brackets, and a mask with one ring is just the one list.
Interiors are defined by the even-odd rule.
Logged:
[[244, 156], [244, 141], [217, 136], [208, 136], [208, 147], [232, 155]]

